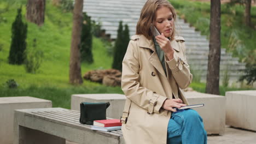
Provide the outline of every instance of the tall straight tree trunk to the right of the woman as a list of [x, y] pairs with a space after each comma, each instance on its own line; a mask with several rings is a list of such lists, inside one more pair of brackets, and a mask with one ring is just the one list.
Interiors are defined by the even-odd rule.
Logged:
[[211, 0], [210, 50], [206, 93], [219, 94], [220, 64], [220, 0]]

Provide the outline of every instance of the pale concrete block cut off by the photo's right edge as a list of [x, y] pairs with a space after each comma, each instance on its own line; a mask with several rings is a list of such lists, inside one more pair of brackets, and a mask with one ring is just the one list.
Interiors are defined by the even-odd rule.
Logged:
[[226, 92], [226, 124], [256, 131], [256, 91]]

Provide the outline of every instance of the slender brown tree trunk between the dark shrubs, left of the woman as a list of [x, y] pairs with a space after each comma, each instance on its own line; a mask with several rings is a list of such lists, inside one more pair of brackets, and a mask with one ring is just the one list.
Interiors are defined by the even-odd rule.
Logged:
[[75, 0], [73, 10], [72, 41], [70, 48], [69, 82], [73, 84], [83, 83], [80, 67], [81, 32], [83, 22], [83, 0]]

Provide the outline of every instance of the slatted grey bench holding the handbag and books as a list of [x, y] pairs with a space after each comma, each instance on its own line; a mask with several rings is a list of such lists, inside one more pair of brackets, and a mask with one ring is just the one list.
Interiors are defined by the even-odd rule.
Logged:
[[14, 144], [124, 144], [121, 130], [97, 131], [79, 123], [78, 111], [62, 108], [23, 109], [14, 113]]

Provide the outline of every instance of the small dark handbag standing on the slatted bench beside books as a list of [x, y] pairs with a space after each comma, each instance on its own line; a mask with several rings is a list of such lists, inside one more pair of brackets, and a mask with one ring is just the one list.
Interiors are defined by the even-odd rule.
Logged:
[[107, 103], [80, 103], [80, 119], [82, 124], [93, 125], [95, 120], [106, 119]]

